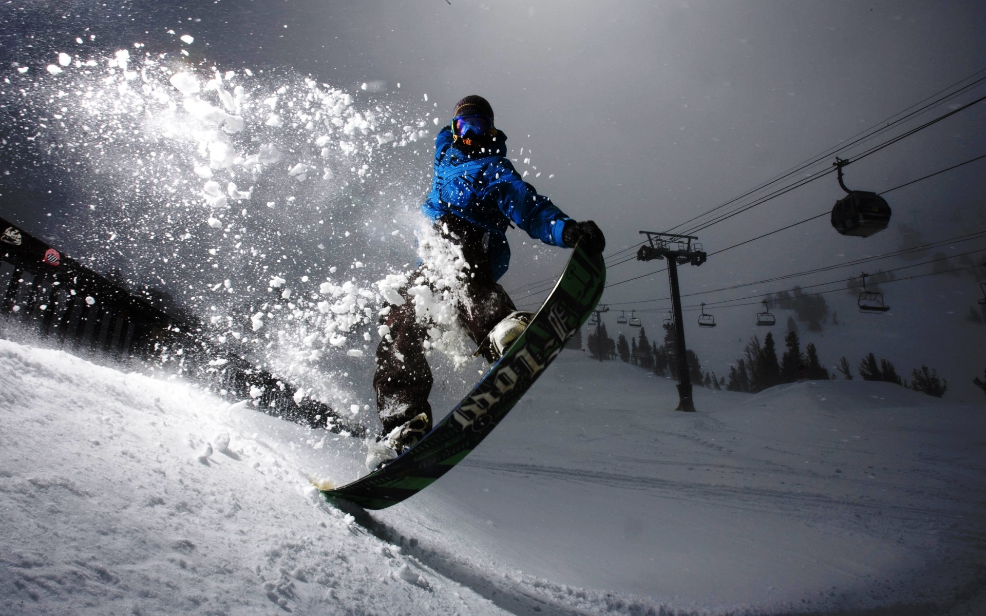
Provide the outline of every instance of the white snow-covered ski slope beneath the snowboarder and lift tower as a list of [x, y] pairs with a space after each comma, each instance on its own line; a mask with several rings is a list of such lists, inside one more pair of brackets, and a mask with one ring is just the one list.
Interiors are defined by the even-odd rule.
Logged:
[[982, 613], [982, 405], [829, 381], [675, 413], [567, 351], [356, 518], [311, 486], [359, 475], [354, 439], [4, 340], [0, 382], [4, 614]]

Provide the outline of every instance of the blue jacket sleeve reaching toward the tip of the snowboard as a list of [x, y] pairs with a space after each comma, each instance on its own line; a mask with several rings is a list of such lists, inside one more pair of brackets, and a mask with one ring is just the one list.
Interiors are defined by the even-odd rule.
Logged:
[[537, 194], [509, 160], [502, 159], [489, 189], [500, 211], [528, 236], [553, 246], [571, 247], [561, 239], [565, 223], [571, 219], [551, 199]]

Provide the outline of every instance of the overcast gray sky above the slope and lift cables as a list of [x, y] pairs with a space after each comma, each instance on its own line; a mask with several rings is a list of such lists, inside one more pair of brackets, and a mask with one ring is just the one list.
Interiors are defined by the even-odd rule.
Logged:
[[[528, 179], [569, 215], [596, 220], [607, 253], [639, 241], [641, 229], [679, 225], [986, 69], [986, 5], [980, 2], [145, 4], [14, 2], [2, 9], [0, 59], [9, 65], [48, 53], [80, 27], [99, 33], [107, 49], [133, 40], [174, 46], [176, 35], [167, 31], [175, 29], [193, 34], [203, 44], [196, 52], [226, 67], [293, 67], [358, 99], [366, 96], [361, 83], [380, 80], [408, 108], [431, 108], [442, 117], [462, 96], [480, 94], [509, 136], [512, 158], [531, 159], [519, 169], [530, 170]], [[63, 13], [67, 19], [60, 19]], [[937, 107], [906, 128], [951, 108]], [[847, 185], [881, 191], [986, 153], [984, 113], [984, 104], [961, 111], [847, 168]], [[833, 160], [828, 156], [810, 171]], [[430, 153], [419, 164], [427, 172]], [[986, 162], [973, 163], [887, 195], [894, 219], [878, 236], [842, 238], [823, 217], [688, 268], [684, 291], [892, 250], [907, 240], [902, 224], [919, 228], [925, 240], [986, 227], [984, 169]], [[535, 178], [537, 171], [542, 174]], [[829, 175], [703, 230], [700, 241], [712, 252], [820, 214], [842, 194]], [[3, 211], [18, 207], [5, 203]], [[23, 209], [19, 214], [31, 218]], [[540, 265], [564, 258], [560, 250], [524, 247], [521, 240], [513, 236], [516, 256], [503, 281], [508, 289], [553, 276], [551, 267]], [[532, 267], [535, 255], [539, 265]], [[611, 267], [609, 281], [659, 267], [629, 261]], [[791, 284], [812, 282], [818, 280]], [[971, 278], [962, 284], [975, 289]], [[603, 301], [615, 307], [666, 295], [659, 274], [612, 287]], [[667, 304], [624, 308], [661, 306]], [[656, 327], [660, 316], [645, 323]]]

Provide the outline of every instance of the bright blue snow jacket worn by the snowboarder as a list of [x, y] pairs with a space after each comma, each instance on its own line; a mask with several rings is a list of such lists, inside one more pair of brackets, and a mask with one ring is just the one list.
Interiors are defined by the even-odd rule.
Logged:
[[561, 234], [571, 219], [524, 181], [506, 158], [506, 141], [501, 131], [489, 155], [469, 157], [453, 146], [452, 130], [443, 128], [435, 138], [432, 189], [421, 205], [433, 221], [454, 214], [489, 233], [494, 280], [510, 266], [506, 232], [511, 222], [535, 240], [570, 247]]

